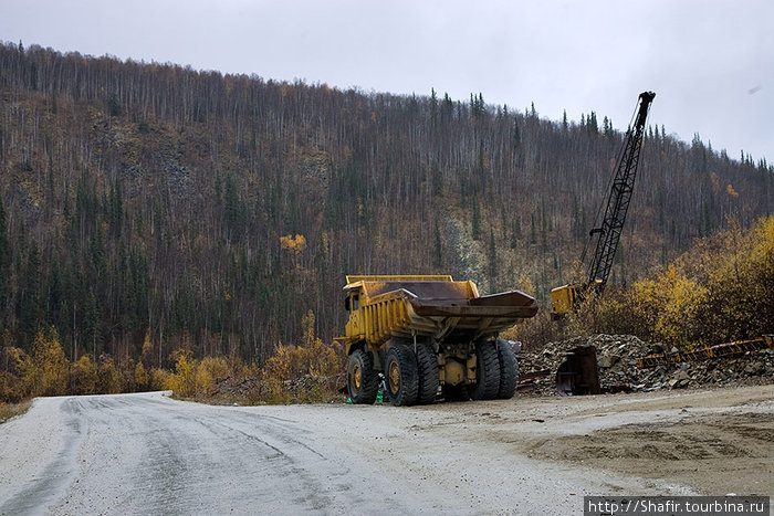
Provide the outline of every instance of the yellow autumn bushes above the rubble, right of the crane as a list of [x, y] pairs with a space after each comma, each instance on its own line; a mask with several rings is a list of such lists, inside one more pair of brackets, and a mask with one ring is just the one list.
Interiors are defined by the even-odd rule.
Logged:
[[665, 272], [598, 301], [597, 330], [682, 349], [774, 331], [774, 215], [738, 224], [678, 257]]

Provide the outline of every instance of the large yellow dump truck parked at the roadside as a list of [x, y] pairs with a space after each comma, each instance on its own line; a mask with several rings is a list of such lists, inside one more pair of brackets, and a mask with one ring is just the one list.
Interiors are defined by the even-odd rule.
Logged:
[[499, 331], [537, 313], [519, 291], [480, 296], [473, 282], [451, 276], [347, 276], [344, 337], [347, 389], [354, 403], [374, 403], [384, 377], [395, 406], [446, 399], [511, 398], [519, 369]]

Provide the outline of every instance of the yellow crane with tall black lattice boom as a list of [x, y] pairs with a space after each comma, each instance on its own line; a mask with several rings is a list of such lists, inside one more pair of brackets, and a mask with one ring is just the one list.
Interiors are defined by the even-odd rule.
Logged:
[[551, 301], [554, 306], [552, 315], [554, 317], [561, 317], [577, 309], [583, 299], [589, 294], [600, 294], [607, 284], [607, 277], [613, 268], [613, 259], [616, 255], [618, 241], [624, 230], [626, 212], [629, 209], [631, 191], [635, 187], [637, 164], [645, 136], [645, 120], [648, 117], [648, 109], [653, 97], [656, 97], [653, 92], [642, 92], [637, 99], [638, 108], [636, 108], [635, 124], [626, 131], [623, 151], [613, 179], [613, 188], [607, 198], [605, 217], [602, 225], [589, 232], [589, 238], [596, 239], [596, 246], [594, 259], [588, 267], [587, 280], [551, 291]]

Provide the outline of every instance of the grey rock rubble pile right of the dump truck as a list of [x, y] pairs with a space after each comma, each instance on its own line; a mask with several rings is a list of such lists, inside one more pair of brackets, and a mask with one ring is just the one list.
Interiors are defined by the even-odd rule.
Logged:
[[674, 352], [661, 344], [649, 344], [631, 335], [594, 335], [519, 354], [520, 391], [556, 394], [556, 370], [579, 346], [594, 346], [603, 392], [650, 391], [686, 387], [762, 385], [774, 381], [774, 352], [750, 351], [733, 358], [705, 359], [638, 368], [646, 355]]

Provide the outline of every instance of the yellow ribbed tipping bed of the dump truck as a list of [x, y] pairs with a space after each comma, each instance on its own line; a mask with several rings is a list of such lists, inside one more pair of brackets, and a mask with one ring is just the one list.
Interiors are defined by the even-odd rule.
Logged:
[[478, 339], [537, 312], [519, 291], [479, 296], [473, 282], [451, 276], [347, 276], [344, 288], [359, 291], [363, 316], [346, 339], [377, 346], [394, 337]]

